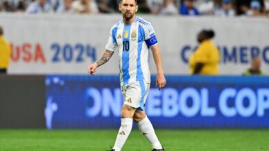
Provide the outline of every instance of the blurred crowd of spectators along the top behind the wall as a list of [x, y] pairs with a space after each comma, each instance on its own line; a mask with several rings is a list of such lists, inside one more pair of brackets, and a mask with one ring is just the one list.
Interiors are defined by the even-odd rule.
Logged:
[[[120, 0], [0, 0], [0, 13], [119, 13]], [[138, 13], [184, 16], [268, 16], [269, 0], [137, 0]]]

